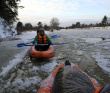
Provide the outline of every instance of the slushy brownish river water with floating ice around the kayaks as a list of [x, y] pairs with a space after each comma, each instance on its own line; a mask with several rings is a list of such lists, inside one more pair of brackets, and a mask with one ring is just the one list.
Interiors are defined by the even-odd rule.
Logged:
[[[0, 76], [0, 93], [36, 93], [55, 67], [66, 60], [84, 70], [100, 86], [109, 84], [109, 33], [108, 29], [50, 32], [49, 36], [54, 43], [67, 42], [68, 44], [54, 45], [55, 55], [52, 58], [30, 60], [29, 52], [27, 52], [22, 62], [14, 66], [5, 76]], [[52, 35], [61, 37], [52, 38]], [[102, 56], [103, 59], [101, 60]], [[109, 63], [103, 68], [98, 58], [101, 61], [108, 60]]]

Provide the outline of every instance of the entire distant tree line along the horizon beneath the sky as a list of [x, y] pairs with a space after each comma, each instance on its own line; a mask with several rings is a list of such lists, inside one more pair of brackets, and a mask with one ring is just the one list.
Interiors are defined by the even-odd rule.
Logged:
[[105, 15], [100, 23], [96, 24], [81, 24], [80, 22], [76, 22], [76, 24], [72, 24], [71, 26], [68, 27], [60, 27], [59, 26], [59, 19], [58, 18], [52, 18], [50, 21], [50, 25], [48, 26], [47, 24], [42, 24], [42, 22], [38, 22], [37, 26], [32, 26], [31, 23], [26, 23], [23, 25], [22, 22], [18, 22], [16, 29], [18, 33], [22, 31], [27, 31], [27, 30], [38, 30], [40, 28], [44, 28], [45, 30], [51, 30], [51, 29], [74, 29], [74, 28], [89, 28], [89, 27], [105, 27], [105, 26], [110, 26], [110, 19]]

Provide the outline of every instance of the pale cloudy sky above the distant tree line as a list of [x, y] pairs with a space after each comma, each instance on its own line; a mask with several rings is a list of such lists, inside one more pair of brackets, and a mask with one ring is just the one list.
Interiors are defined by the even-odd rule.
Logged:
[[59, 19], [60, 26], [73, 23], [101, 22], [110, 17], [110, 0], [21, 0], [19, 19], [23, 23], [37, 25], [38, 22], [50, 25], [50, 20]]

